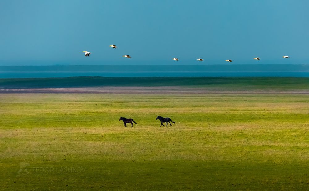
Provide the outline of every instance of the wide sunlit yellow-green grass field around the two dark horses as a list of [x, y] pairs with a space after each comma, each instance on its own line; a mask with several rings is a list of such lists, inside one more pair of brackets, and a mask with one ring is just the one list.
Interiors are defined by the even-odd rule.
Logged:
[[309, 188], [308, 94], [0, 94], [0, 119], [0, 190]]

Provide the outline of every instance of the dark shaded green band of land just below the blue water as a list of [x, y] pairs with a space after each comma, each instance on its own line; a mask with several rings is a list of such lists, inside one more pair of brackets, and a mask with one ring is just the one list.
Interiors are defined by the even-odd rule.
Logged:
[[[112, 89], [111, 87], [114, 87]], [[14, 89], [99, 89], [98, 92], [119, 92], [119, 89], [169, 91], [192, 88], [202, 92], [307, 92], [308, 77], [66, 77], [0, 79], [2, 93]], [[41, 91], [40, 90], [40, 91]], [[95, 91], [97, 91], [95, 90]], [[148, 91], [147, 90], [147, 91]], [[189, 91], [191, 91], [189, 90]], [[17, 90], [16, 90], [17, 91]], [[57, 90], [58, 91], [58, 90]], [[135, 91], [135, 90], [134, 90]], [[176, 91], [176, 92], [177, 92]], [[185, 90], [187, 91], [187, 89]], [[127, 91], [128, 92], [128, 91]], [[175, 92], [175, 91], [174, 91]], [[90, 92], [91, 93], [91, 92]]]

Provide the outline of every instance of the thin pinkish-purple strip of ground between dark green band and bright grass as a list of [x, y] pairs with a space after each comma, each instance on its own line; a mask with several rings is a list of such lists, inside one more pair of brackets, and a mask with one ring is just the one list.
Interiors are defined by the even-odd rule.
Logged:
[[275, 91], [275, 90], [248, 90], [248, 91], [224, 91], [207, 88], [190, 88], [178, 86], [161, 86], [161, 87], [86, 87], [86, 88], [30, 88], [30, 89], [0, 89], [0, 93], [132, 93], [132, 94], [203, 94], [203, 93], [222, 93], [222, 94], [309, 94], [307, 90], [295, 91]]

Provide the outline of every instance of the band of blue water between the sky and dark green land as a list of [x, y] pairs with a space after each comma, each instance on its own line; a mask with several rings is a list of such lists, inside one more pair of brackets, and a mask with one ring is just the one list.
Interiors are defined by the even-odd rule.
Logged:
[[0, 66], [0, 78], [71, 76], [104, 77], [200, 77], [278, 76], [309, 77], [307, 64], [264, 65], [95, 65], [95, 66]]

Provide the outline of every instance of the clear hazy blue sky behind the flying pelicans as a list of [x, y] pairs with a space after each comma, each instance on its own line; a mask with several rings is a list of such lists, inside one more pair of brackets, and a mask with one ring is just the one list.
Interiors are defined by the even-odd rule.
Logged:
[[2, 1], [0, 65], [309, 63], [308, 7], [307, 0]]

